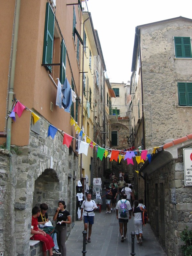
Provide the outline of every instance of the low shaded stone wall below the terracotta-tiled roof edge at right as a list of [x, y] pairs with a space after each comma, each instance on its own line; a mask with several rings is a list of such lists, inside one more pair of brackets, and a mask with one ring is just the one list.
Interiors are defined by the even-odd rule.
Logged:
[[[147, 177], [150, 223], [169, 256], [182, 255], [180, 233], [186, 226], [192, 229], [192, 187], [184, 187], [183, 168], [180, 149], [178, 159]], [[171, 203], [171, 188], [176, 189], [176, 204]]]

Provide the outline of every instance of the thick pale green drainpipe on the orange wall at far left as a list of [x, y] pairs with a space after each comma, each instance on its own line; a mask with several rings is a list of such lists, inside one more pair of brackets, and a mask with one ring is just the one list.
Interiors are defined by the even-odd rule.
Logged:
[[[14, 38], [13, 38], [13, 50], [12, 50], [12, 61], [11, 61], [11, 73], [10, 73], [10, 85], [8, 92], [8, 111], [11, 110], [13, 103], [13, 95], [14, 95], [14, 78], [15, 78], [15, 63], [16, 63], [16, 54], [17, 54], [17, 39], [18, 39], [18, 30], [19, 30], [19, 16], [20, 16], [20, 0], [16, 0], [15, 2], [15, 24], [13, 24], [14, 28]], [[11, 125], [12, 118], [9, 117], [7, 120], [7, 140], [6, 140], [6, 149], [11, 150]]]

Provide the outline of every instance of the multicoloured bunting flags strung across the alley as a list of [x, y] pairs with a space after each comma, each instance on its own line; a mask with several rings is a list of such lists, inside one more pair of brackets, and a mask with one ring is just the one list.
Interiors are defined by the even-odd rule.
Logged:
[[[31, 112], [34, 124], [36, 124], [36, 122], [40, 119], [39, 116], [37, 116], [31, 109], [29, 109], [28, 107], [26, 107], [25, 105], [20, 103], [19, 100], [16, 100], [16, 102], [13, 106], [12, 112], [7, 116], [7, 118], [12, 117], [12, 119], [16, 122], [15, 113], [17, 113], [17, 115], [19, 117], [21, 117], [21, 115], [23, 113], [23, 110], [28, 110], [28, 111]], [[76, 134], [79, 134], [81, 139], [74, 138], [73, 136], [67, 134], [66, 132], [63, 132], [63, 130], [61, 131], [60, 129], [53, 126], [52, 124], [49, 124], [47, 137], [51, 136], [52, 139], [54, 139], [56, 132], [59, 131], [62, 134], [64, 134], [64, 136], [63, 136], [63, 145], [65, 144], [69, 148], [69, 146], [71, 144], [71, 141], [73, 139], [78, 140], [80, 142], [80, 146], [79, 146], [79, 149], [78, 149], [78, 154], [84, 154], [84, 155], [87, 156], [88, 148], [89, 147], [92, 148], [92, 149], [95, 148], [95, 150], [97, 151], [97, 158], [99, 157], [99, 159], [101, 161], [102, 161], [103, 157], [105, 157], [105, 158], [109, 157], [110, 162], [114, 160], [116, 162], [119, 161], [119, 163], [120, 163], [121, 160], [123, 159], [124, 161], [125, 160], [127, 161], [127, 164], [134, 165], [133, 157], [135, 157], [135, 160], [138, 164], [145, 163], [145, 161], [147, 159], [150, 163], [152, 155], [157, 153], [157, 148], [162, 148], [163, 147], [163, 145], [162, 145], [162, 146], [159, 146], [159, 147], [154, 147], [154, 148], [149, 148], [149, 149], [141, 149], [141, 146], [140, 146], [136, 150], [132, 150], [132, 148], [128, 148], [126, 150], [106, 149], [106, 148], [100, 147], [91, 138], [89, 138], [82, 131], [82, 129], [78, 126], [77, 122], [74, 120], [73, 117], [71, 117], [70, 125], [75, 126]], [[149, 153], [149, 150], [153, 150], [153, 152]], [[139, 155], [139, 153], [140, 153], [140, 155]], [[138, 171], [135, 171], [135, 172], [138, 173]]]

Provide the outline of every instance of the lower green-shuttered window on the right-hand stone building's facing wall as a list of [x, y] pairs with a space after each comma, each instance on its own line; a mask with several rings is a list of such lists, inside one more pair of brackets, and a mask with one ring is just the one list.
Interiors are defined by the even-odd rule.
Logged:
[[179, 106], [192, 106], [192, 83], [177, 83]]

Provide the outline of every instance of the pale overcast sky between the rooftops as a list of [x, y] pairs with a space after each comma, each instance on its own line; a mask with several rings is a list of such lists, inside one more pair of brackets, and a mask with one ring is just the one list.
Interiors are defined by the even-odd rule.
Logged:
[[[192, 19], [192, 2], [161, 0], [88, 0], [110, 82], [131, 78], [135, 27], [179, 16]], [[191, 36], [191, 35], [189, 35]]]

